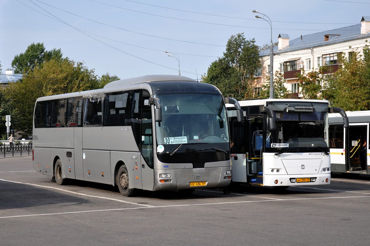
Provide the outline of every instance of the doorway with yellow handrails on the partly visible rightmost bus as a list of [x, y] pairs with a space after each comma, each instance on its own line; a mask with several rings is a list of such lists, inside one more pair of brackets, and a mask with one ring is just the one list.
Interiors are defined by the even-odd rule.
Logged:
[[346, 131], [347, 170], [350, 172], [366, 173], [367, 168], [367, 128], [368, 123], [350, 124]]

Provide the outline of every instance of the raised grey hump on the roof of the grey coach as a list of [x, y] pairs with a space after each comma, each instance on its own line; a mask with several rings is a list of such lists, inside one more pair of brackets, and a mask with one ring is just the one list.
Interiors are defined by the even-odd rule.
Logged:
[[131, 84], [141, 84], [148, 82], [158, 82], [158, 81], [190, 81], [198, 82], [195, 79], [191, 79], [185, 76], [178, 75], [145, 75], [140, 77], [134, 77], [131, 79], [121, 79], [112, 81], [104, 86], [104, 88], [118, 87], [118, 86], [127, 86]]

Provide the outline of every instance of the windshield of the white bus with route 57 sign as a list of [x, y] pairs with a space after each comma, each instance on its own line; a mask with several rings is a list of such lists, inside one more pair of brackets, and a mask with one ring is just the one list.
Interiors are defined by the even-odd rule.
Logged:
[[266, 152], [329, 151], [327, 103], [268, 102], [276, 130], [266, 136]]

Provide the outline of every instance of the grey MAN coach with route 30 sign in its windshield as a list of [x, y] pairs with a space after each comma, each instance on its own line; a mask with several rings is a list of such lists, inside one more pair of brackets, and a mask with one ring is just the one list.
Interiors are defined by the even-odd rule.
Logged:
[[136, 189], [223, 187], [231, 181], [226, 103], [211, 84], [152, 75], [104, 89], [38, 98], [33, 166], [57, 184], [68, 179]]

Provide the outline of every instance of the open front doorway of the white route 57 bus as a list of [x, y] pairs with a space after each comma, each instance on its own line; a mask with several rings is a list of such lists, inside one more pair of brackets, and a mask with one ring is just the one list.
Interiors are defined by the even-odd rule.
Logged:
[[255, 165], [253, 162], [250, 162], [249, 165], [248, 172], [253, 174], [253, 176], [250, 176], [251, 184], [263, 184], [263, 119], [263, 115], [249, 116], [247, 119], [250, 139], [249, 160], [256, 163]]

